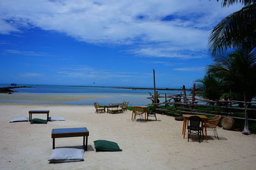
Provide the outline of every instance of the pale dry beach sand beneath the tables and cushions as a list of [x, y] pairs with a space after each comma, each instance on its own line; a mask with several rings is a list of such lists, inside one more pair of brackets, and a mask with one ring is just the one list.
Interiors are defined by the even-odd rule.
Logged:
[[[48, 124], [9, 123], [28, 117], [29, 110], [50, 110], [66, 121]], [[0, 169], [255, 169], [256, 135], [218, 127], [220, 140], [182, 138], [182, 122], [157, 114], [157, 120], [132, 122], [131, 111], [95, 113], [93, 106], [51, 104], [0, 105]], [[45, 115], [33, 115], [45, 118]], [[87, 127], [88, 151], [83, 162], [49, 164], [54, 128]], [[118, 143], [122, 152], [95, 152], [93, 141]], [[56, 147], [81, 146], [83, 138], [57, 138]]]

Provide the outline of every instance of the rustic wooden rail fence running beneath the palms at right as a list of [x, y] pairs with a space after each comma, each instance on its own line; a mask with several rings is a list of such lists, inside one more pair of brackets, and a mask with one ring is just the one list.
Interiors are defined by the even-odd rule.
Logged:
[[[232, 117], [237, 119], [245, 119], [246, 111], [250, 114], [256, 114], [256, 109], [250, 106], [255, 105], [256, 101], [253, 99], [252, 102], [244, 101], [212, 101], [209, 99], [202, 99], [195, 96], [193, 91], [192, 96], [186, 95], [186, 89], [180, 94], [158, 94], [157, 91], [154, 96], [148, 97], [148, 99], [153, 99], [159, 103], [154, 102], [157, 111], [172, 111], [174, 114], [179, 115], [179, 113], [184, 114], [198, 114], [198, 115], [220, 115], [221, 117]], [[241, 107], [240, 105], [249, 106], [248, 108]], [[161, 106], [161, 107], [159, 107]], [[168, 106], [175, 106], [170, 108]], [[209, 110], [209, 107], [212, 110]], [[254, 118], [248, 118], [248, 120], [255, 121]]]

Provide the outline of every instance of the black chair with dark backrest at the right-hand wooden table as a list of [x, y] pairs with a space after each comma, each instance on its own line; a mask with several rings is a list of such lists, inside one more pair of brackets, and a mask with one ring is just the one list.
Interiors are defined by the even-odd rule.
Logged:
[[[201, 125], [201, 127], [200, 127]], [[203, 133], [204, 136], [204, 131], [202, 128], [202, 118], [198, 117], [198, 116], [191, 116], [188, 118], [188, 141], [189, 141], [189, 137], [192, 134], [198, 134], [198, 138], [199, 138], [199, 143], [200, 143], [200, 139], [201, 139], [201, 132]]]

